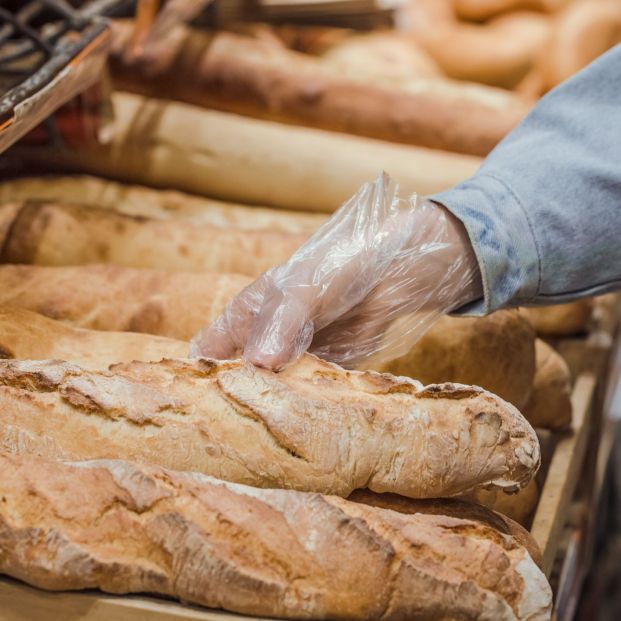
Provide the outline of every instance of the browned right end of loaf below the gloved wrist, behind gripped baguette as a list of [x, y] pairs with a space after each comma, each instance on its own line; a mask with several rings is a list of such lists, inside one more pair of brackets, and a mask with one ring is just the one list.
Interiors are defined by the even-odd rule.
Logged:
[[424, 384], [475, 384], [522, 409], [535, 375], [535, 333], [517, 311], [442, 317], [405, 356], [371, 368]]

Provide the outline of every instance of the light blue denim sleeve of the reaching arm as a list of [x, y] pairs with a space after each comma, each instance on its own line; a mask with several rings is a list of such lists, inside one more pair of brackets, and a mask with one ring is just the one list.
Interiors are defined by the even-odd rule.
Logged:
[[430, 197], [465, 225], [483, 314], [621, 288], [621, 45], [537, 104], [468, 181]]

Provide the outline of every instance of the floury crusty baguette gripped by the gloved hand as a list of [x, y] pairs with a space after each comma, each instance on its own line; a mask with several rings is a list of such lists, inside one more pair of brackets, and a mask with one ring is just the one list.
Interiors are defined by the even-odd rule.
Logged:
[[533, 429], [491, 393], [344, 371], [309, 355], [280, 373], [207, 359], [110, 372], [5, 360], [0, 384], [5, 451], [128, 458], [340, 496], [517, 490], [539, 466]]

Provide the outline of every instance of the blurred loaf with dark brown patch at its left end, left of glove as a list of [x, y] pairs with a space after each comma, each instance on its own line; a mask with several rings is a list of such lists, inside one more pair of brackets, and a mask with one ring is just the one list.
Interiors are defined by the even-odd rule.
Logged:
[[[6, 208], [0, 206], [0, 211]], [[164, 221], [89, 205], [25, 201], [0, 248], [0, 262], [112, 263], [258, 276], [286, 261], [308, 237]]]

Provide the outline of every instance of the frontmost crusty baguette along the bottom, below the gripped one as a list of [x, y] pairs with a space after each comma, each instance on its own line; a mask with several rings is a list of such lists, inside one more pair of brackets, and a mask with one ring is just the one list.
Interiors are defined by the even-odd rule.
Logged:
[[527, 549], [468, 518], [123, 461], [0, 456], [0, 572], [288, 619], [547, 621]]

